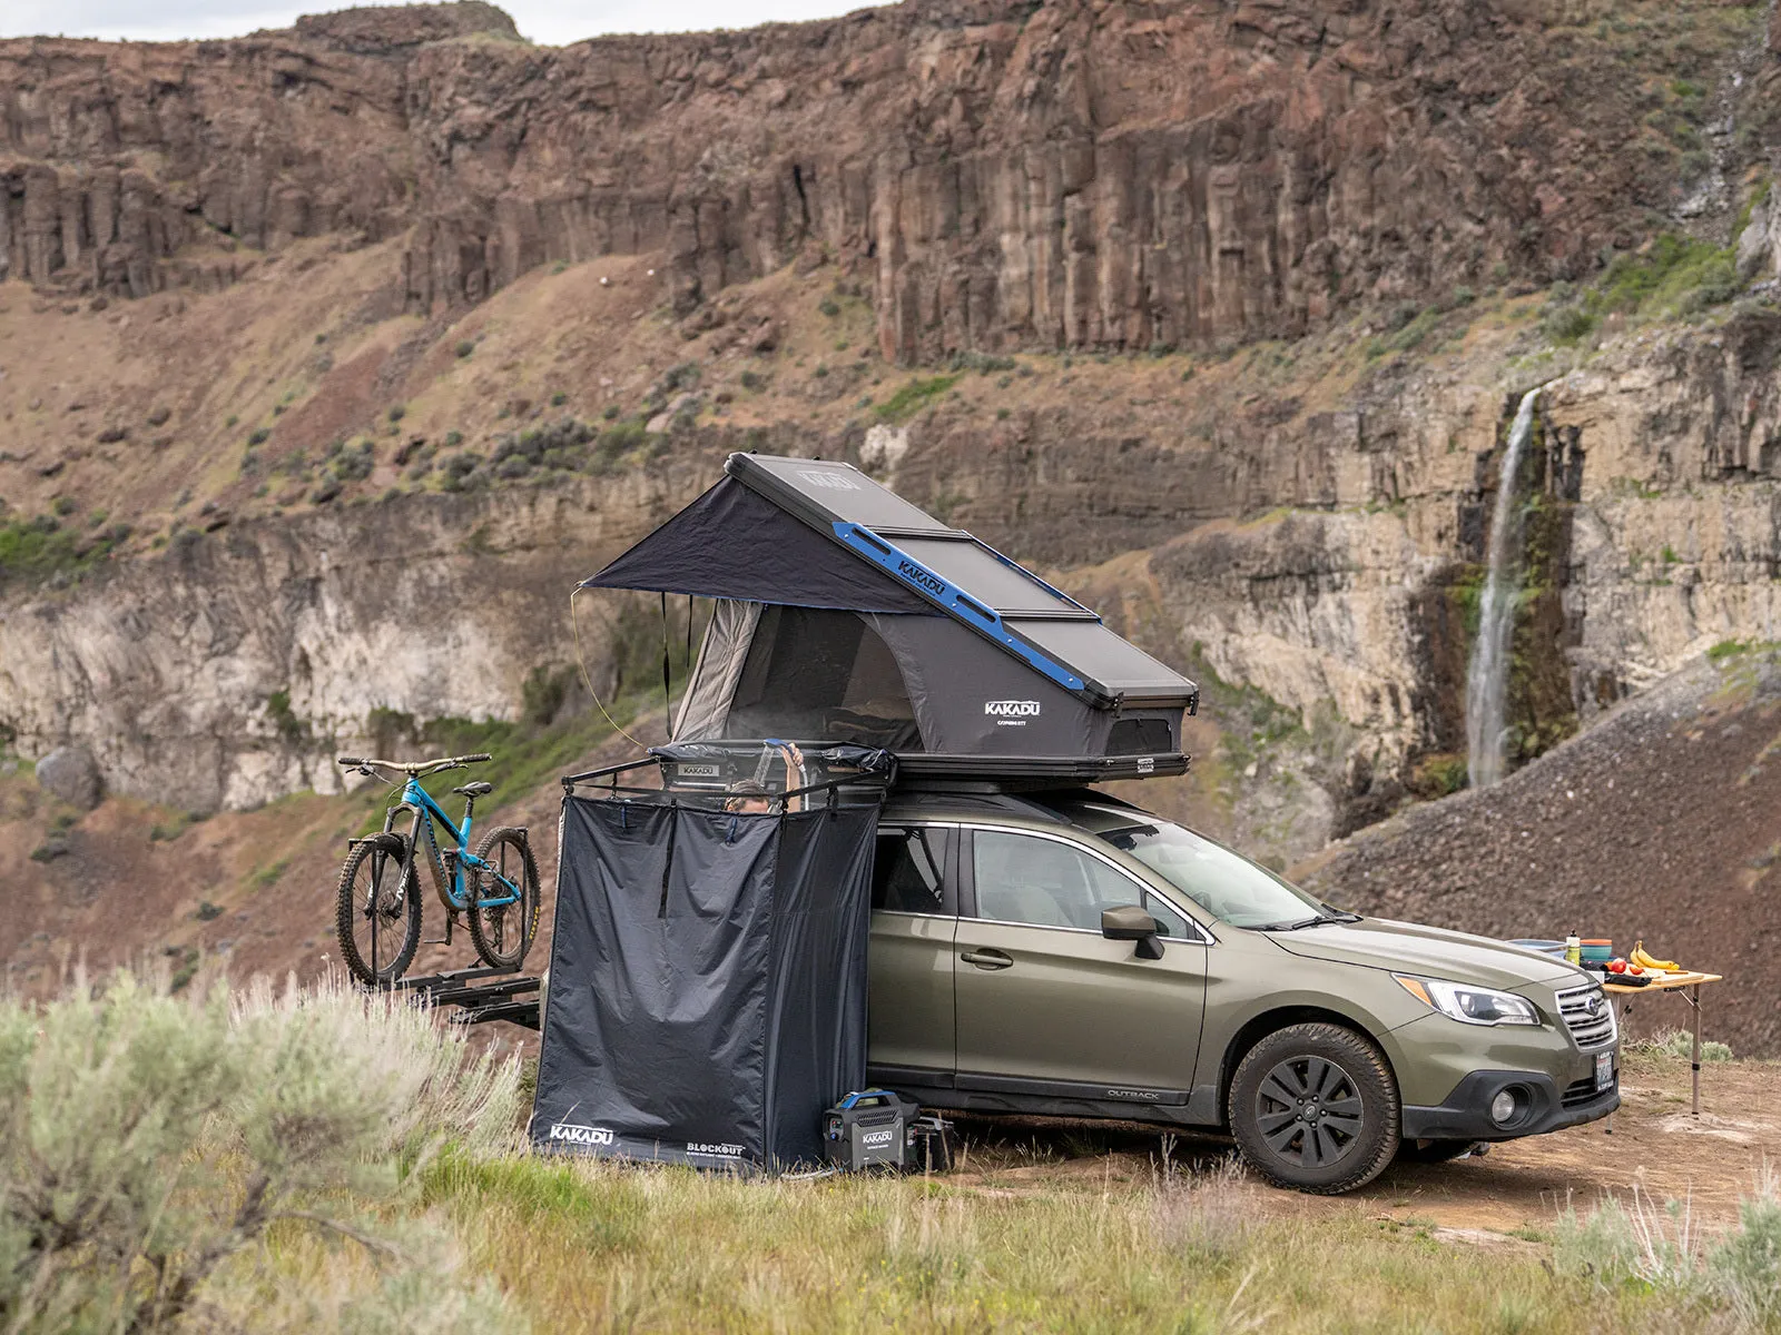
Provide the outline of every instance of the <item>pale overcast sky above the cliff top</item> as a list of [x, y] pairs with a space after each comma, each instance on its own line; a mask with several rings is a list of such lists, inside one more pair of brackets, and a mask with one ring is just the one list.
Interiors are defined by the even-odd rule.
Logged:
[[[698, 32], [832, 18], [867, 0], [497, 0], [533, 41], [563, 46], [602, 32]], [[346, 9], [346, 0], [0, 0], [0, 37], [239, 37], [287, 28], [297, 14]]]

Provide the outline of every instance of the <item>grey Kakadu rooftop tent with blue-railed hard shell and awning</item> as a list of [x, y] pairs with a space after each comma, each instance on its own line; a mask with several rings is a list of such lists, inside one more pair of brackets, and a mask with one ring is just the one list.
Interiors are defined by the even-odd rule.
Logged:
[[793, 737], [905, 774], [1179, 774], [1199, 687], [848, 463], [732, 454], [582, 587], [716, 598], [675, 742]]

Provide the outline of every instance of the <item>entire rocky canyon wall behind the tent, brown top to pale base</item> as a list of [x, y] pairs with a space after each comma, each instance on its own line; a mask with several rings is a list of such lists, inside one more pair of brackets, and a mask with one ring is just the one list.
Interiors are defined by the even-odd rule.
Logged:
[[1517, 758], [1776, 637], [1765, 14], [0, 43], [0, 726], [201, 810], [328, 783], [374, 717], [516, 716], [575, 577], [801, 450], [1222, 684], [1193, 801], [1309, 853], [1455, 781], [1505, 484]]

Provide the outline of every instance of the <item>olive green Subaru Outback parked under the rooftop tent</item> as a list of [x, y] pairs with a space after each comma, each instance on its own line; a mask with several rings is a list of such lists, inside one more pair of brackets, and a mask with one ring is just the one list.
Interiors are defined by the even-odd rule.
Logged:
[[903, 792], [873, 883], [871, 1077], [949, 1109], [1227, 1129], [1270, 1182], [1614, 1112], [1587, 974], [1362, 918], [1095, 792]]

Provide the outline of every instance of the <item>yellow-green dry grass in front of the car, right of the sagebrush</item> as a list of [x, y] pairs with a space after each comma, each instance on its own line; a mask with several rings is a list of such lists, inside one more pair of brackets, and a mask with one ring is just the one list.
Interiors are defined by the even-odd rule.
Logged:
[[1533, 1250], [1257, 1219], [1229, 1168], [1012, 1191], [456, 1157], [424, 1194], [538, 1330], [1587, 1331], [1667, 1310], [1578, 1303]]

